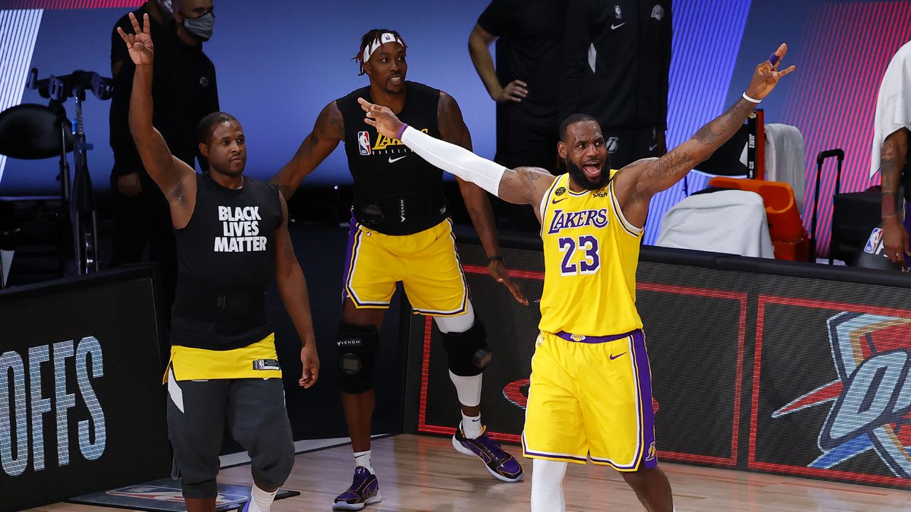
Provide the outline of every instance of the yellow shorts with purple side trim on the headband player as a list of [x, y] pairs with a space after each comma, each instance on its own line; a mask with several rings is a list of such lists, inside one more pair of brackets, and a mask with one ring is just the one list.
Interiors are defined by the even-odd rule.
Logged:
[[402, 282], [415, 313], [466, 312], [468, 287], [448, 219], [410, 235], [386, 235], [352, 220], [344, 275], [343, 299], [358, 309], [388, 308]]

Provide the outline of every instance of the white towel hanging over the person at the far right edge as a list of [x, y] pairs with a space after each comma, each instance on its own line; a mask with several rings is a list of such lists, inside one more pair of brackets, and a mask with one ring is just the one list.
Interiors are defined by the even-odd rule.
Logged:
[[885, 69], [876, 97], [870, 177], [879, 170], [883, 141], [901, 128], [911, 129], [911, 42], [898, 48]]

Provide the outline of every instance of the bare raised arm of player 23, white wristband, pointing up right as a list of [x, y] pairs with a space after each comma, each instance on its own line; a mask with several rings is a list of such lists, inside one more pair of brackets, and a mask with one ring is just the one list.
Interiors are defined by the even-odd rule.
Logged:
[[[773, 65], [768, 60], [756, 67], [746, 95], [763, 99], [778, 84], [779, 78], [791, 73], [793, 66], [778, 70], [787, 46], [775, 50], [777, 56]], [[635, 226], [641, 226], [649, 212], [651, 197], [683, 179], [690, 170], [711, 157], [715, 149], [732, 138], [750, 115], [755, 103], [740, 99], [718, 118], [712, 119], [700, 128], [696, 135], [660, 159], [646, 159], [633, 162], [620, 169], [614, 178], [614, 190], [623, 215]]]

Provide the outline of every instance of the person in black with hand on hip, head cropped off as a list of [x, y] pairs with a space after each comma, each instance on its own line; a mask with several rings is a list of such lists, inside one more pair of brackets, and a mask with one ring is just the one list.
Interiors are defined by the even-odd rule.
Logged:
[[[507, 168], [534, 165], [558, 171], [558, 77], [566, 10], [565, 0], [493, 0], [468, 37], [477, 75], [498, 104], [496, 127], [503, 133], [496, 137], [496, 162]], [[496, 70], [489, 51], [495, 41]], [[503, 227], [539, 227], [527, 208], [496, 200], [496, 210]]]

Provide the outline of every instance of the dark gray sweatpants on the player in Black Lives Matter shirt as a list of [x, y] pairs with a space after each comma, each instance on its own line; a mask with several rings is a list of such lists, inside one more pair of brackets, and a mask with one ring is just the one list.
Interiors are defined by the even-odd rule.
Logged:
[[250, 455], [256, 486], [272, 490], [284, 484], [294, 465], [294, 443], [281, 379], [172, 380], [168, 394], [168, 430], [184, 497], [217, 496], [225, 421]]

